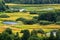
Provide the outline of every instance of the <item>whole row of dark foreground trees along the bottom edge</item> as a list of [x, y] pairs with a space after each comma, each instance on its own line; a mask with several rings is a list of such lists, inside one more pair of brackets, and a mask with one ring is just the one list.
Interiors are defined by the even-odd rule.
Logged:
[[[56, 36], [54, 36], [53, 31], [51, 31], [50, 36], [47, 37], [42, 29], [32, 30], [31, 33], [29, 30], [21, 30], [21, 32], [16, 32], [14, 34], [12, 29], [7, 28], [0, 33], [0, 40], [60, 40], [60, 29], [54, 31], [56, 31]], [[23, 35], [20, 36], [20, 33], [23, 33]], [[38, 36], [38, 33], [41, 34], [41, 36]]]

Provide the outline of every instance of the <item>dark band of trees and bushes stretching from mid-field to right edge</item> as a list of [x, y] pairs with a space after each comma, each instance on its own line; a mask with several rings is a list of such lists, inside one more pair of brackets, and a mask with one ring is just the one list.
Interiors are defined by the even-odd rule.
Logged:
[[25, 25], [50, 25], [57, 24], [60, 25], [60, 9], [54, 11], [44, 11], [44, 12], [30, 12], [30, 14], [38, 14], [38, 16], [34, 16], [31, 20], [26, 18], [17, 18], [16, 21], [22, 21]]

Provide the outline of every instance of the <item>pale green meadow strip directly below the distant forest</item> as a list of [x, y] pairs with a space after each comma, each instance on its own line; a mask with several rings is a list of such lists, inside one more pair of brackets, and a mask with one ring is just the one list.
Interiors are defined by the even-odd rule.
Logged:
[[41, 11], [41, 9], [60, 9], [60, 4], [6, 4], [11, 8], [26, 9], [27, 11]]

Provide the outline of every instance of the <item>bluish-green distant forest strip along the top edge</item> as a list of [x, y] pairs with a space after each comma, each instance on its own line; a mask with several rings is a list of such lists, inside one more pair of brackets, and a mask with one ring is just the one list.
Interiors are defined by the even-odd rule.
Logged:
[[4, 0], [6, 3], [17, 4], [60, 4], [60, 0]]

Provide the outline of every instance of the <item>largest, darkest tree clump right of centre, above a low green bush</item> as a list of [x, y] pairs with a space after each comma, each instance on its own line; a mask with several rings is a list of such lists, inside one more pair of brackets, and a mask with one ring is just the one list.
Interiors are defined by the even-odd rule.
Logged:
[[55, 12], [48, 12], [40, 14], [38, 20], [48, 20], [51, 22], [56, 22], [57, 14]]

